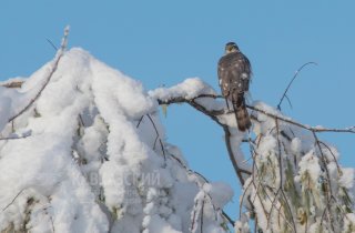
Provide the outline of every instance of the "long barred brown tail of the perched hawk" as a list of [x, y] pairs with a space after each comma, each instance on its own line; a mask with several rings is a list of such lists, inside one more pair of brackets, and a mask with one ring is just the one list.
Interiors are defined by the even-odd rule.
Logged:
[[244, 97], [239, 97], [237, 99], [237, 101], [233, 101], [233, 109], [235, 112], [237, 129], [244, 132], [251, 128], [252, 122], [246, 110]]

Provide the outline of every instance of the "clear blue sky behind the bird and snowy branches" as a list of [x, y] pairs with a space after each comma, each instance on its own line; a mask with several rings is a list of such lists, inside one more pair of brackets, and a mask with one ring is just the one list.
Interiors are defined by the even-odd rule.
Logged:
[[[216, 90], [216, 62], [225, 42], [250, 58], [254, 100], [276, 105], [295, 70], [315, 61], [295, 81], [286, 114], [311, 125], [355, 124], [355, 1], [342, 0], [1, 0], [0, 79], [28, 77], [53, 57], [71, 26], [69, 47], [142, 81], [146, 90], [200, 77]], [[169, 141], [192, 169], [211, 181], [239, 184], [222, 130], [189, 107], [170, 107], [163, 120]], [[355, 166], [355, 135], [323, 134]], [[239, 192], [236, 192], [239, 194]], [[236, 216], [239, 197], [227, 207]]]

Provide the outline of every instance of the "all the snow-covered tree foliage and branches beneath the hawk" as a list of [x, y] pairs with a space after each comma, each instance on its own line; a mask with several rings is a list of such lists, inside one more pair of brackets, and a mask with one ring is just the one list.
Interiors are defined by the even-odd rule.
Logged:
[[[145, 92], [87, 51], [65, 51], [67, 36], [53, 61], [0, 88], [1, 232], [355, 231], [354, 170], [318, 139], [353, 128], [312, 128], [255, 102], [245, 135], [202, 80]], [[223, 212], [233, 190], [165, 141], [159, 107], [173, 103], [223, 128], [243, 185], [235, 222]]]

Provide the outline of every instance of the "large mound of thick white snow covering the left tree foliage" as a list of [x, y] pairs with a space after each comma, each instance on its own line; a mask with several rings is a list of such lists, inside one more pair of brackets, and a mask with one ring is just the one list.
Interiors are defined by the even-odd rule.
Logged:
[[187, 169], [140, 82], [61, 49], [0, 94], [0, 231], [225, 232], [233, 191]]

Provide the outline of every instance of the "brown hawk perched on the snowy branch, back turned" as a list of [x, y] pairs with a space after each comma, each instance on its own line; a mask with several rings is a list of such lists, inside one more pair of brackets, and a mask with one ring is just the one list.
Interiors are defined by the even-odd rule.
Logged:
[[240, 131], [248, 130], [248, 116], [244, 93], [248, 91], [252, 68], [248, 59], [240, 51], [234, 42], [225, 44], [225, 54], [219, 61], [219, 81], [226, 105], [232, 102], [236, 123]]

